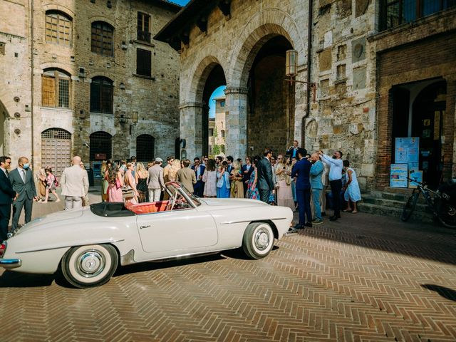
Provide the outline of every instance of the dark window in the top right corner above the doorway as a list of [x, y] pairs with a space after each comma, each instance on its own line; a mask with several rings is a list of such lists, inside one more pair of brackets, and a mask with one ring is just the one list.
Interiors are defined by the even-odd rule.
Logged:
[[410, 23], [423, 16], [456, 6], [456, 0], [383, 0], [382, 29]]

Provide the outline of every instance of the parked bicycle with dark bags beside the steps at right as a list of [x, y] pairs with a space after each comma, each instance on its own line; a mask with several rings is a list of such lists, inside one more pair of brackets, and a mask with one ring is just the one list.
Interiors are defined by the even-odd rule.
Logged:
[[423, 197], [425, 197], [427, 207], [430, 209], [432, 214], [437, 217], [440, 223], [445, 227], [456, 228], [456, 196], [447, 194], [447, 192], [450, 192], [448, 190], [455, 192], [454, 189], [456, 185], [447, 186], [447, 189], [445, 189], [447, 192], [440, 190], [434, 191], [430, 190], [425, 183], [418, 182], [408, 177], [407, 179], [414, 182], [417, 187], [413, 189], [412, 194], [408, 197], [408, 201], [404, 205], [400, 219], [404, 222], [410, 219], [421, 193], [423, 194]]

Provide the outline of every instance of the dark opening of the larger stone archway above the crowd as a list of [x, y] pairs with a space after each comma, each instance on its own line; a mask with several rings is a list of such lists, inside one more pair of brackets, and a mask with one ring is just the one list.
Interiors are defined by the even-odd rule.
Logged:
[[247, 150], [253, 155], [265, 147], [284, 153], [294, 140], [294, 84], [284, 81], [286, 51], [293, 46], [284, 36], [268, 38], [252, 56], [247, 86]]

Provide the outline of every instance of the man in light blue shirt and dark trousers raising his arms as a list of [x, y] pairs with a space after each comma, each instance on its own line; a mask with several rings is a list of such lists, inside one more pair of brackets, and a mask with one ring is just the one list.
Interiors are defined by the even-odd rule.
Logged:
[[331, 187], [334, 208], [334, 214], [329, 219], [330, 221], [336, 221], [336, 219], [341, 218], [342, 152], [334, 151], [332, 158], [323, 154], [322, 151], [318, 151], [318, 154], [321, 156], [321, 160], [329, 165], [329, 185]]

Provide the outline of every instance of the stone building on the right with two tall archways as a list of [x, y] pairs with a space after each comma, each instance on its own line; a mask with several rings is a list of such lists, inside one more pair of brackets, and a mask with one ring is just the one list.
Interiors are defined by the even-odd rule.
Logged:
[[[456, 177], [454, 1], [209, 2], [191, 1], [157, 35], [181, 52], [188, 155], [205, 152], [207, 98], [225, 84], [228, 154], [294, 139], [343, 150], [372, 190], [388, 186], [395, 138], [420, 137], [425, 179]], [[291, 49], [298, 83], [284, 81]]]

